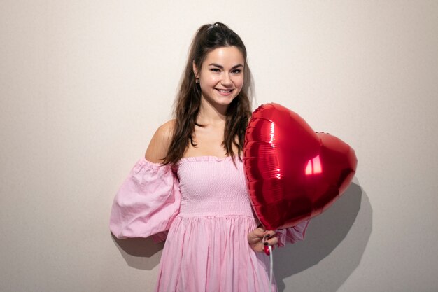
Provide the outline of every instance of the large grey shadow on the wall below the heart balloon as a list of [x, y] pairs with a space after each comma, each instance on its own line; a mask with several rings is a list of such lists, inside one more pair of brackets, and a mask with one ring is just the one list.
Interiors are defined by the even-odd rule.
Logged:
[[[371, 230], [371, 204], [355, 179], [337, 202], [311, 220], [303, 242], [274, 250], [278, 291], [337, 291], [358, 267]], [[284, 280], [291, 276], [286, 288]]]

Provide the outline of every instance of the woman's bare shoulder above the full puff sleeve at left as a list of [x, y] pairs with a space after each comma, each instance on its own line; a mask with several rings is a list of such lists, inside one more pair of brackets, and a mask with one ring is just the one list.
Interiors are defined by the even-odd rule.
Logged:
[[157, 131], [150, 139], [148, 149], [145, 153], [146, 160], [154, 163], [163, 162], [167, 154], [167, 149], [174, 133], [175, 120], [169, 120], [158, 127]]

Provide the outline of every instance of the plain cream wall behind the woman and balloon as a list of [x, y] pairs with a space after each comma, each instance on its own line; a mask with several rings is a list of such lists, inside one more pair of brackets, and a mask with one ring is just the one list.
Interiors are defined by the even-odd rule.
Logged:
[[162, 245], [111, 202], [171, 118], [190, 39], [245, 41], [254, 106], [347, 141], [358, 172], [280, 291], [438, 291], [437, 1], [0, 1], [0, 291], [153, 291]]

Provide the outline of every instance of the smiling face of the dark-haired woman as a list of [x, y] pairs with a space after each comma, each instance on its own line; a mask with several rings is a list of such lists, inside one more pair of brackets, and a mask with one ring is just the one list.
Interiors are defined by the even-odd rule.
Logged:
[[203, 102], [213, 106], [228, 106], [239, 95], [243, 86], [245, 60], [241, 51], [232, 47], [221, 47], [206, 55], [201, 69], [193, 65], [199, 78]]

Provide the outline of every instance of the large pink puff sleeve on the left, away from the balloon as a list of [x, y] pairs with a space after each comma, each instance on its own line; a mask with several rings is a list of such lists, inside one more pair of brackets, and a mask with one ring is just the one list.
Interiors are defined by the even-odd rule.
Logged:
[[181, 193], [171, 165], [140, 159], [115, 195], [110, 230], [118, 239], [149, 237], [162, 241], [178, 215]]

